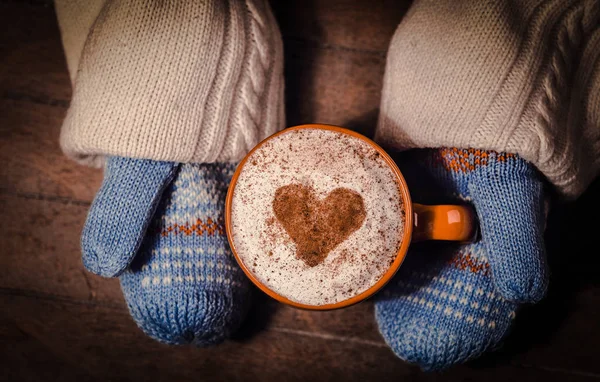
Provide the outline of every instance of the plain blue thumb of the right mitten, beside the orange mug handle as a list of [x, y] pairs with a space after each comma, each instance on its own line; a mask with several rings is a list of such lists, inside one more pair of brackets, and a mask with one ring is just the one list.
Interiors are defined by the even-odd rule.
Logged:
[[498, 292], [514, 302], [537, 302], [548, 285], [544, 191], [537, 170], [497, 154], [470, 182], [483, 244]]

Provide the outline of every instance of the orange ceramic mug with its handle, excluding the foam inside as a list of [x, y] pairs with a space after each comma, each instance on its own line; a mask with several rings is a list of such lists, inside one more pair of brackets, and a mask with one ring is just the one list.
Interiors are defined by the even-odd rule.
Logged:
[[[300, 129], [323, 129], [330, 130], [342, 134], [347, 134], [352, 137], [358, 138], [363, 142], [371, 145], [377, 152], [381, 155], [381, 157], [385, 160], [387, 165], [390, 167], [392, 172], [396, 176], [397, 183], [400, 187], [400, 193], [404, 203], [404, 211], [405, 211], [405, 226], [404, 226], [404, 237], [402, 238], [400, 249], [396, 255], [395, 260], [393, 261], [390, 268], [384, 273], [383, 277], [379, 279], [373, 286], [371, 286], [366, 291], [351, 297], [347, 300], [340, 301], [334, 304], [325, 304], [325, 305], [307, 305], [301, 304], [295, 301], [292, 301], [276, 292], [272, 289], [268, 288], [266, 285], [261, 283], [252, 272], [246, 267], [244, 262], [238, 256], [235, 244], [233, 241], [233, 233], [232, 233], [232, 219], [231, 219], [231, 210], [232, 210], [232, 201], [233, 195], [235, 192], [235, 186], [237, 179], [240, 176], [242, 169], [244, 168], [244, 164], [247, 159], [257, 150], [259, 147], [264, 145], [269, 140], [273, 139], [276, 136], [281, 134], [285, 134], [291, 130], [300, 130]], [[344, 129], [337, 126], [331, 125], [322, 125], [322, 124], [309, 124], [309, 125], [301, 125], [296, 127], [290, 127], [288, 129], [282, 130], [278, 133], [271, 135], [266, 138], [262, 142], [260, 142], [256, 147], [254, 147], [248, 155], [238, 165], [233, 178], [231, 180], [231, 184], [229, 185], [229, 190], [227, 192], [227, 199], [225, 202], [225, 227], [227, 231], [227, 238], [229, 240], [229, 245], [231, 246], [231, 251], [235, 256], [236, 261], [246, 274], [248, 278], [263, 292], [273, 297], [274, 299], [283, 302], [285, 304], [302, 308], [302, 309], [311, 309], [311, 310], [331, 310], [347, 307], [353, 304], [356, 304], [368, 297], [371, 297], [377, 291], [379, 291], [398, 271], [400, 265], [404, 261], [406, 253], [408, 251], [408, 247], [412, 242], [416, 241], [424, 241], [424, 240], [449, 240], [449, 241], [458, 241], [458, 242], [470, 242], [475, 239], [477, 236], [477, 223], [475, 218], [475, 212], [473, 209], [467, 205], [422, 205], [417, 203], [412, 203], [410, 198], [410, 193], [408, 190], [408, 186], [400, 169], [396, 166], [394, 160], [375, 142], [370, 140], [369, 138], [361, 135], [357, 132]]]

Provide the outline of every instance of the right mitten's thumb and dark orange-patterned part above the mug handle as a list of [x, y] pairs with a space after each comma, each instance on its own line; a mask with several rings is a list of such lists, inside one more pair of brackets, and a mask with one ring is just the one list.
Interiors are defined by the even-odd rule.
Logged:
[[418, 203], [471, 203], [498, 292], [537, 302], [548, 284], [541, 175], [514, 154], [483, 150], [415, 150], [402, 165]]

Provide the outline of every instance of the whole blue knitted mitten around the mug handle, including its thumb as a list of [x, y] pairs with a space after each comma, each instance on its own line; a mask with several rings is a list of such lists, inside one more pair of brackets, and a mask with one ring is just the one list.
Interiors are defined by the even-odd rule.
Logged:
[[415, 243], [376, 297], [379, 330], [402, 359], [439, 370], [497, 347], [520, 302], [546, 291], [543, 183], [516, 155], [412, 150], [400, 168], [413, 200], [472, 203], [481, 239]]

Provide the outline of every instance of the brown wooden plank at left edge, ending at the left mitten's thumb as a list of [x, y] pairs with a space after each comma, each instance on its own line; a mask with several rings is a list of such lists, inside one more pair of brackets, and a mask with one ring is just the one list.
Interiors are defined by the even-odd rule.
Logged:
[[23, 99], [0, 102], [0, 187], [4, 192], [89, 205], [102, 172], [77, 165], [60, 151], [64, 112]]

